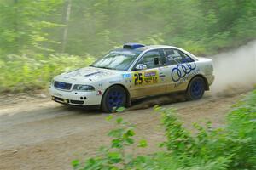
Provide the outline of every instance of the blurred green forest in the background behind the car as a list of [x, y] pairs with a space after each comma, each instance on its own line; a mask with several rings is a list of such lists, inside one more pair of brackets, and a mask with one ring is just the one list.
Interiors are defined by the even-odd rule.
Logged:
[[[71, 7], [69, 20], [67, 3]], [[102, 56], [125, 42], [167, 44], [194, 54], [216, 54], [255, 37], [254, 0], [2, 0], [0, 65], [8, 67], [3, 71], [8, 75], [0, 73], [1, 91], [42, 88], [41, 82], [45, 82], [38, 81], [40, 74], [28, 74], [38, 65], [44, 65], [46, 72], [50, 70], [56, 64], [49, 64], [50, 54]], [[39, 54], [45, 57], [38, 59]], [[14, 58], [14, 63], [9, 58]], [[43, 77], [46, 80], [49, 75]], [[31, 86], [22, 82], [27, 80]]]

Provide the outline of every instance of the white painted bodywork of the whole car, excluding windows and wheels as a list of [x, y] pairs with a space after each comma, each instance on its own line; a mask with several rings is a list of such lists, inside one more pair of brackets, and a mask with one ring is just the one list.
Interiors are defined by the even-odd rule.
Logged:
[[[142, 58], [143, 54], [159, 48], [178, 49], [184, 54], [189, 55], [195, 61], [189, 64], [166, 65], [143, 71], [131, 71], [137, 64], [137, 61]], [[113, 85], [123, 86], [130, 94], [130, 99], [137, 99], [148, 95], [185, 91], [189, 85], [189, 81], [195, 76], [204, 77], [207, 80], [208, 86], [210, 86], [214, 79], [212, 74], [212, 60], [195, 57], [195, 55], [189, 54], [189, 52], [181, 48], [153, 46], [143, 51], [128, 71], [85, 67], [76, 71], [62, 73], [53, 79], [53, 82], [49, 86], [49, 92], [55, 101], [60, 98], [61, 100], [59, 102], [61, 103], [68, 103], [69, 105], [101, 105], [104, 92]], [[70, 90], [56, 88], [54, 85], [55, 81], [71, 83], [72, 87]], [[95, 88], [95, 91], [74, 91], [72, 90], [74, 84], [90, 85]], [[84, 101], [84, 104], [71, 103], [71, 100]]]

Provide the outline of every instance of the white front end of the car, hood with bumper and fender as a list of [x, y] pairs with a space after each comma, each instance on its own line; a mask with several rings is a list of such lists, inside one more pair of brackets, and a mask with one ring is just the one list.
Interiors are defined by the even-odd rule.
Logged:
[[[95, 91], [80, 92], [73, 90], [63, 90], [55, 88], [54, 85], [51, 84], [49, 92], [52, 96], [69, 100], [80, 100], [81, 97], [86, 97], [86, 99], [84, 100], [84, 105], [100, 105], [102, 100], [102, 94], [104, 94], [105, 90], [111, 85], [119, 83], [123, 84], [126, 88], [129, 88], [127, 87], [127, 83], [125, 83], [125, 79], [122, 76], [125, 73], [125, 71], [113, 71], [95, 67], [85, 67], [76, 71], [63, 73], [55, 77], [54, 81], [67, 83], [71, 82], [73, 85], [91, 85], [95, 88]], [[98, 91], [101, 91], [102, 94], [97, 95]]]

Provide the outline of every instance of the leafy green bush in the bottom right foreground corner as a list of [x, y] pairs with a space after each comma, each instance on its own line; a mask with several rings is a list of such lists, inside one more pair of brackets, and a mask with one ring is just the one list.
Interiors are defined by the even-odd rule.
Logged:
[[[166, 127], [166, 149], [178, 156], [183, 166], [195, 168], [193, 162], [205, 162], [204, 166], [221, 165], [209, 169], [253, 169], [256, 166], [256, 90], [230, 111], [224, 128], [202, 127], [195, 124], [196, 135], [191, 135], [177, 120], [174, 111], [157, 108], [163, 114]], [[199, 164], [200, 165], [200, 164]]]

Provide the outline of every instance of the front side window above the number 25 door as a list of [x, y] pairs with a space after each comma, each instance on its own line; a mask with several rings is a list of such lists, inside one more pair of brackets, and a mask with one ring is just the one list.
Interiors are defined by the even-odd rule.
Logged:
[[143, 55], [143, 59], [141, 59], [137, 64], [147, 65], [148, 69], [162, 66], [163, 64], [160, 51], [148, 51], [146, 54]]

